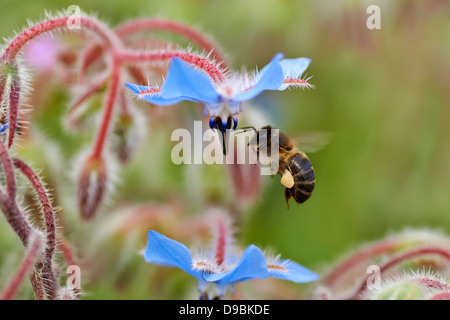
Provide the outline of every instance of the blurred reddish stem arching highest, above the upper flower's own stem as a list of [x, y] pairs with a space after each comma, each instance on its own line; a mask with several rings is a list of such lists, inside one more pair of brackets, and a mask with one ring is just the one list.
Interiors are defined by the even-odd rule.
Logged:
[[223, 54], [217, 49], [217, 46], [212, 43], [211, 40], [190, 26], [172, 20], [161, 18], [143, 18], [132, 20], [119, 25], [115, 29], [115, 32], [119, 37], [123, 38], [135, 32], [152, 30], [169, 31], [184, 36], [197, 44], [199, 47], [205, 49], [207, 52], [212, 52], [218, 61], [225, 63]]

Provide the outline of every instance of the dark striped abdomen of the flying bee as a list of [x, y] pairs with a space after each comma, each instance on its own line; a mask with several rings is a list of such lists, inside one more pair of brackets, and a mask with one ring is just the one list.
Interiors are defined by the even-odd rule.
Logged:
[[316, 185], [314, 168], [308, 157], [301, 152], [291, 156], [288, 164], [294, 177], [294, 186], [286, 190], [286, 197], [290, 195], [297, 203], [303, 203], [311, 197]]

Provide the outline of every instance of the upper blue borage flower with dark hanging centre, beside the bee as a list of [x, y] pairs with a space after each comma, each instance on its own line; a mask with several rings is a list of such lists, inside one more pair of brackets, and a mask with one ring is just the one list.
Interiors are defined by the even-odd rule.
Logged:
[[126, 86], [139, 98], [160, 106], [183, 100], [203, 103], [204, 115], [210, 116], [211, 129], [219, 129], [225, 133], [227, 129], [236, 129], [237, 114], [242, 111], [242, 102], [253, 99], [265, 90], [312, 87], [308, 83], [309, 79], [301, 79], [311, 59], [283, 57], [282, 53], [276, 54], [253, 77], [230, 73], [220, 82], [213, 81], [205, 72], [175, 57], [161, 88], [131, 83], [126, 83]]

